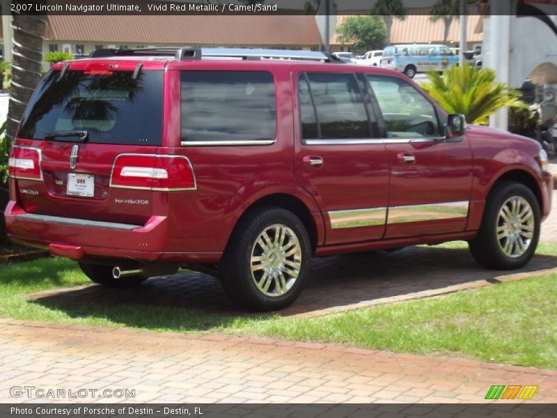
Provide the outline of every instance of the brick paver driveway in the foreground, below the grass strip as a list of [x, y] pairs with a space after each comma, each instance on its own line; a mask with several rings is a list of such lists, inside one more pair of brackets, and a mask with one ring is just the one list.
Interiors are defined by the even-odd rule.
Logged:
[[535, 402], [557, 402], [556, 371], [272, 339], [0, 320], [0, 353], [0, 402], [33, 385], [136, 391], [76, 400], [88, 402], [478, 403], [494, 384], [538, 385]]

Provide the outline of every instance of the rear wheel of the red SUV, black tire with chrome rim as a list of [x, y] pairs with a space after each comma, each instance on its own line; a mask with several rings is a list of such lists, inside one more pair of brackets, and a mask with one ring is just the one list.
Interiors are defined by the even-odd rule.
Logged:
[[[284, 233], [283, 229], [280, 230], [278, 240], [277, 233], [274, 233], [278, 231], [277, 226], [284, 229]], [[274, 241], [278, 248], [266, 247], [269, 251], [265, 252], [257, 241], [264, 232], [268, 232], [267, 238]], [[280, 242], [283, 242], [282, 247]], [[291, 245], [293, 247], [290, 247]], [[288, 255], [292, 251], [295, 251], [295, 254]], [[262, 260], [260, 264], [254, 265], [258, 270], [252, 272], [252, 262], [256, 263], [251, 258], [254, 254], [260, 254]], [[296, 215], [274, 206], [254, 208], [240, 219], [230, 237], [219, 264], [221, 284], [228, 297], [243, 308], [254, 311], [283, 309], [292, 304], [304, 288], [309, 274], [310, 258], [311, 244], [308, 232]], [[282, 263], [281, 260], [285, 262]], [[299, 268], [291, 268], [292, 263], [299, 265]], [[297, 277], [290, 276], [290, 272], [298, 272]], [[280, 277], [285, 280], [281, 281]], [[258, 286], [262, 286], [263, 289]]]

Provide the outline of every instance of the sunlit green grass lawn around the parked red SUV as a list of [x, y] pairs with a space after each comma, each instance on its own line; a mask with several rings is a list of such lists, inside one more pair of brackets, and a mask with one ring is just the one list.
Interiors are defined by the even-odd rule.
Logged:
[[[461, 249], [464, 243], [442, 245]], [[464, 250], [463, 251], [467, 251]], [[538, 254], [557, 255], [557, 245]], [[0, 317], [170, 332], [274, 336], [557, 369], [557, 274], [312, 319], [225, 316], [171, 306], [30, 302], [24, 294], [88, 284], [77, 263], [0, 265]]]

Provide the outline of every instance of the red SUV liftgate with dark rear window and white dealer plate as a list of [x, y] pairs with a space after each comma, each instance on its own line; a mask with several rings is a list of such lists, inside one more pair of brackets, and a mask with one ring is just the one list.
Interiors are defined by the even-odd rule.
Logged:
[[16, 149], [40, 154], [40, 177], [17, 178], [18, 201], [26, 212], [146, 222], [152, 215], [146, 171], [128, 169], [124, 183], [112, 186], [111, 173], [118, 155], [135, 155], [130, 163], [156, 155], [162, 143], [161, 67], [140, 67], [134, 74], [137, 63], [80, 61], [45, 75], [15, 143]]

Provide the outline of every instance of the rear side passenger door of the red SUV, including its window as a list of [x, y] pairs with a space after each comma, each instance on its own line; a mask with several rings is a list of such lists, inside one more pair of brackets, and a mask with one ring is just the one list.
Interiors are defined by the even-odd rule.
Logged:
[[326, 245], [379, 240], [385, 230], [389, 167], [363, 82], [311, 70], [292, 79], [295, 175], [322, 210]]

